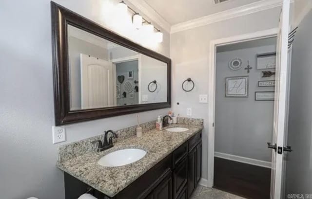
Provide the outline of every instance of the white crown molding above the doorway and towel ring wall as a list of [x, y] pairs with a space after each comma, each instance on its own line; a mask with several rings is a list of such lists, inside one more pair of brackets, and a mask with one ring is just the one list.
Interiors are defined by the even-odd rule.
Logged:
[[283, 3], [283, 0], [260, 0], [254, 3], [243, 5], [237, 8], [232, 8], [226, 11], [215, 13], [201, 18], [196, 18], [186, 22], [178, 23], [171, 26], [171, 34], [189, 30], [192, 28], [204, 26], [207, 24], [215, 23], [218, 21], [228, 20], [244, 15], [249, 15], [263, 10], [279, 7]]

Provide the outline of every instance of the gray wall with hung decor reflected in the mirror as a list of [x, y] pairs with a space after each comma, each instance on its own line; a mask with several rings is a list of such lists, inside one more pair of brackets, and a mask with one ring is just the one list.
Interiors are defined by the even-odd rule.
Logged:
[[[128, 79], [128, 71], [133, 71], [133, 79]], [[122, 62], [122, 63], [116, 64], [116, 81], [117, 81], [117, 84], [120, 84], [117, 80], [118, 75], [124, 75], [125, 80], [122, 82], [121, 87], [120, 87], [121, 98], [117, 99], [117, 105], [120, 106], [124, 104], [127, 104], [127, 105], [138, 104], [138, 92], [135, 92], [134, 89], [133, 89], [134, 99], [129, 98], [130, 93], [127, 93], [126, 98], [122, 97], [122, 93], [125, 91], [124, 84], [127, 81], [130, 81], [134, 85], [134, 87], [138, 86], [138, 84], [134, 83], [135, 80], [138, 81], [138, 61], [128, 61], [128, 62]]]

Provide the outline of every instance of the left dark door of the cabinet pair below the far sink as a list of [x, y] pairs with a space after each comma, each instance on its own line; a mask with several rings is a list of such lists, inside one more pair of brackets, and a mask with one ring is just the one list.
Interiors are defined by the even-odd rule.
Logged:
[[188, 195], [189, 198], [195, 189], [196, 181], [196, 147], [188, 155]]

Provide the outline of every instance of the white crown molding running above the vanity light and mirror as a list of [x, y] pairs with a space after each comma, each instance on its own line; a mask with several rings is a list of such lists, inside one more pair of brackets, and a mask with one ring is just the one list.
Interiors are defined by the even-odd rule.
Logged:
[[170, 33], [171, 25], [164, 18], [162, 18], [147, 2], [145, 2], [144, 0], [127, 0], [127, 1], [133, 4], [140, 12], [142, 12], [149, 19], [155, 22], [163, 30]]

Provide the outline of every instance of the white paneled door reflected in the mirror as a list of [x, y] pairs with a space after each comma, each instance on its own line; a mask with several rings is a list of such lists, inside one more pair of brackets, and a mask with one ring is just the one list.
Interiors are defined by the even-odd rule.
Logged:
[[95, 109], [114, 105], [113, 63], [80, 54], [81, 108]]

